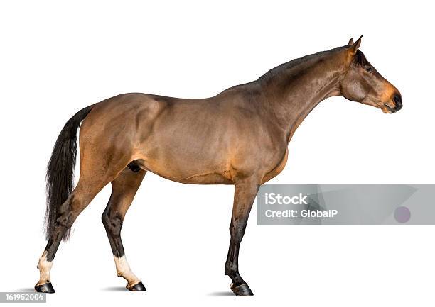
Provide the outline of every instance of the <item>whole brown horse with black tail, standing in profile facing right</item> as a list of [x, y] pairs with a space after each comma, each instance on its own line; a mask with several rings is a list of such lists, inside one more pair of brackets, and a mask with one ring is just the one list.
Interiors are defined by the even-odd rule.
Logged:
[[[399, 91], [367, 62], [359, 38], [271, 69], [257, 81], [208, 99], [122, 94], [87, 106], [65, 124], [48, 164], [48, 244], [36, 291], [54, 292], [50, 269], [62, 238], [109, 182], [102, 214], [118, 276], [127, 289], [146, 291], [131, 272], [121, 240], [122, 221], [147, 171], [186, 184], [234, 184], [230, 249], [225, 274], [236, 295], [252, 295], [238, 271], [247, 218], [259, 186], [284, 168], [296, 128], [323, 99], [351, 101], [394, 113]], [[76, 133], [80, 179], [73, 189]]]

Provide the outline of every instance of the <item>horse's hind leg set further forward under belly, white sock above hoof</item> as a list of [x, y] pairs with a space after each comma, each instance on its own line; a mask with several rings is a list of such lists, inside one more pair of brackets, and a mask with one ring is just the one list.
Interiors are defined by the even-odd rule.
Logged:
[[125, 214], [145, 174], [146, 171], [142, 169], [131, 169], [129, 164], [129, 167], [112, 181], [112, 194], [102, 214], [102, 223], [112, 248], [117, 275], [127, 280], [126, 287], [130, 291], [146, 291], [146, 289], [141, 280], [131, 272], [122, 245], [121, 228]]

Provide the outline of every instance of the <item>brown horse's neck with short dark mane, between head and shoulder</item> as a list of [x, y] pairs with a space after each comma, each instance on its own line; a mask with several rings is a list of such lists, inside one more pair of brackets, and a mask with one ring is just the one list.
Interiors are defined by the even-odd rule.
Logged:
[[[290, 141], [308, 113], [324, 99], [340, 94], [340, 80], [347, 65], [345, 53], [320, 52], [276, 67], [259, 79], [267, 108]], [[269, 76], [268, 76], [269, 74]]]

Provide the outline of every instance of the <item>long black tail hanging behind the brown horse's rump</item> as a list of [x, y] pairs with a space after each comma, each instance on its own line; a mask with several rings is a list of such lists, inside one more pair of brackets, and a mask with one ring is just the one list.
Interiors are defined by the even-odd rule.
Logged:
[[[77, 156], [77, 129], [80, 122], [91, 111], [87, 106], [70, 118], [58, 136], [53, 147], [47, 167], [47, 210], [45, 211], [45, 235], [47, 240], [53, 233], [55, 221], [58, 217], [58, 208], [73, 191], [75, 157]], [[70, 229], [63, 235], [63, 240], [70, 237]]]

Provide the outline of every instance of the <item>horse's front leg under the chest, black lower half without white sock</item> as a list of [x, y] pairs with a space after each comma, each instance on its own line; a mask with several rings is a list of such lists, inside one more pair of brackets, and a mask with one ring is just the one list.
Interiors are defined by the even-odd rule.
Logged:
[[228, 275], [232, 284], [230, 289], [237, 296], [253, 295], [247, 283], [239, 274], [239, 249], [240, 242], [245, 234], [249, 212], [254, 203], [259, 188], [259, 181], [254, 177], [239, 179], [235, 182], [234, 204], [230, 224], [230, 249], [225, 263], [225, 275]]

